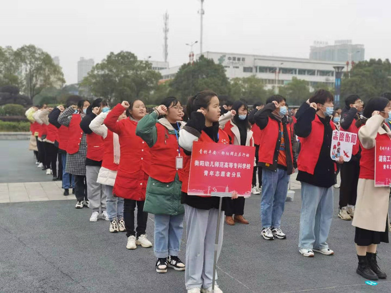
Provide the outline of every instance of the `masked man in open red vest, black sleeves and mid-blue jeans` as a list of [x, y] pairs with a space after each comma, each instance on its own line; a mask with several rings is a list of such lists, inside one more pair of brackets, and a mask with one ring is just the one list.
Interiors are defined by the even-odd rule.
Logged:
[[285, 98], [273, 95], [254, 116], [262, 133], [258, 166], [262, 167], [261, 235], [266, 240], [286, 238], [280, 228], [281, 217], [289, 176], [297, 167], [292, 147], [295, 138], [286, 113]]

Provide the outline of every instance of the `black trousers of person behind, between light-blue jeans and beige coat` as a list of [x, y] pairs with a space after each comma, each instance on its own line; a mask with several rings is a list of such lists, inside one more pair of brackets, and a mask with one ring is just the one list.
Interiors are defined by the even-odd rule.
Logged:
[[339, 189], [340, 209], [347, 205], [356, 205], [357, 184], [360, 174], [360, 161], [354, 157], [341, 165], [341, 186]]

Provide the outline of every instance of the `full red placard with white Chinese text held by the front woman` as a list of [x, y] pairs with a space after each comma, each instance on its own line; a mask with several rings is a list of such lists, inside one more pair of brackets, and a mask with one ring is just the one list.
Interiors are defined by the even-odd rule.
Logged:
[[255, 147], [195, 142], [189, 176], [189, 195], [251, 195]]

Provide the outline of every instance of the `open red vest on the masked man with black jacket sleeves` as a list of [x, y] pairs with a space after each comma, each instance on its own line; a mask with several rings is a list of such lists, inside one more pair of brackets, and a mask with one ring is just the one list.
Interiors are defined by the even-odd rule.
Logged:
[[[264, 129], [261, 129], [262, 139], [260, 143], [260, 149], [258, 151], [258, 162], [273, 165], [274, 152], [276, 150], [278, 135], [281, 130], [279, 122], [269, 117], [269, 122]], [[286, 125], [286, 130], [288, 131], [289, 142], [285, 142], [285, 145], [289, 144], [290, 157], [292, 158], [293, 166], [293, 153], [292, 153], [292, 143], [291, 143], [291, 126]], [[287, 157], [286, 157], [287, 158]]]

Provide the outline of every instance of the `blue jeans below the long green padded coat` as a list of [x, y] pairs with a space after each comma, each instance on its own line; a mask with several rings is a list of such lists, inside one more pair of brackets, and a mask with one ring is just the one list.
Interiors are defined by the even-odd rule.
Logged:
[[183, 232], [183, 218], [179, 215], [155, 215], [155, 231], [153, 251], [157, 258], [178, 256]]

